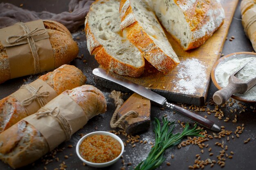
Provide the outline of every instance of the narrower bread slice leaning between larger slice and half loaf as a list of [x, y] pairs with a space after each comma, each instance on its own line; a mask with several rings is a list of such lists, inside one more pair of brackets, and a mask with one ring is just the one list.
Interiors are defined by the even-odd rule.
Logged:
[[164, 74], [180, 63], [155, 13], [142, 0], [121, 0], [121, 29], [150, 64]]

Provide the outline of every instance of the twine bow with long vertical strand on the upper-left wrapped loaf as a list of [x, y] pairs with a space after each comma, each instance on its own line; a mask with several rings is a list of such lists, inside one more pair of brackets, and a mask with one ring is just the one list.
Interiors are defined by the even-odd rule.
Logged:
[[[9, 43], [9, 44], [15, 44], [15, 43], [18, 43], [18, 42], [21, 42], [21, 41], [27, 39], [27, 42], [29, 44], [29, 47], [31, 49], [31, 52], [32, 52], [32, 55], [33, 55], [33, 58], [34, 58], [34, 74], [39, 73], [40, 72], [40, 65], [39, 65], [38, 48], [36, 46], [36, 43], [35, 43], [33, 37], [45, 34], [46, 29], [36, 28], [33, 31], [30, 31], [29, 28], [24, 23], [18, 22], [17, 24], [22, 27], [25, 34], [24, 35], [9, 36], [6, 39], [6, 42]], [[16, 39], [11, 41], [12, 38], [16, 38]], [[47, 38], [43, 38], [43, 39], [47, 39]], [[41, 40], [43, 40], [43, 39], [41, 39]]]

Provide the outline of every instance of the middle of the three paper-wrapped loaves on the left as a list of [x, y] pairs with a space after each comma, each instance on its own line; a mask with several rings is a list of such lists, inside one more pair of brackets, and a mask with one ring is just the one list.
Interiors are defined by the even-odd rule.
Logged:
[[[86, 77], [81, 70], [75, 66], [65, 64], [52, 72], [40, 76], [29, 85], [34, 86], [34, 90], [42, 86], [36, 94], [43, 95], [41, 97], [43, 99], [42, 105], [45, 105], [63, 91], [82, 86], [85, 81]], [[49, 93], [47, 94], [46, 91]], [[22, 118], [36, 113], [42, 107], [38, 98], [30, 99], [30, 104], [29, 101], [24, 104], [25, 99], [29, 99], [32, 96], [33, 93], [26, 88], [20, 88], [15, 93], [0, 100], [0, 133], [16, 124]]]

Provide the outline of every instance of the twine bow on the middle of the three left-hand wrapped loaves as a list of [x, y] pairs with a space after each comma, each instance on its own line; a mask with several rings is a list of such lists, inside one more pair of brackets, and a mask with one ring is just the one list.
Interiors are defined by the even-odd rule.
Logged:
[[45, 99], [50, 95], [49, 91], [44, 91], [42, 93], [39, 93], [40, 88], [43, 86], [39, 86], [37, 89], [33, 86], [30, 86], [29, 84], [24, 84], [20, 88], [26, 88], [32, 95], [28, 97], [27, 99], [23, 100], [21, 102], [22, 106], [26, 107], [29, 106], [34, 100], [37, 100], [40, 107], [45, 106], [47, 104], [47, 100]]

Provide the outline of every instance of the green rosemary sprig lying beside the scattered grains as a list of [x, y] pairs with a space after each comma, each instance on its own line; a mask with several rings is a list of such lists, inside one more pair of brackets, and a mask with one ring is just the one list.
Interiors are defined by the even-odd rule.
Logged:
[[203, 135], [199, 134], [202, 131], [201, 129], [196, 129], [196, 126], [189, 129], [188, 123], [186, 123], [183, 132], [177, 134], [172, 133], [175, 126], [174, 121], [168, 121], [163, 117], [163, 126], [161, 127], [159, 119], [155, 118], [153, 124], [155, 132], [155, 145], [150, 150], [148, 157], [144, 161], [141, 161], [134, 170], [154, 170], [155, 168], [159, 167], [165, 161], [165, 150], [180, 144], [181, 140], [185, 136], [204, 137]]

